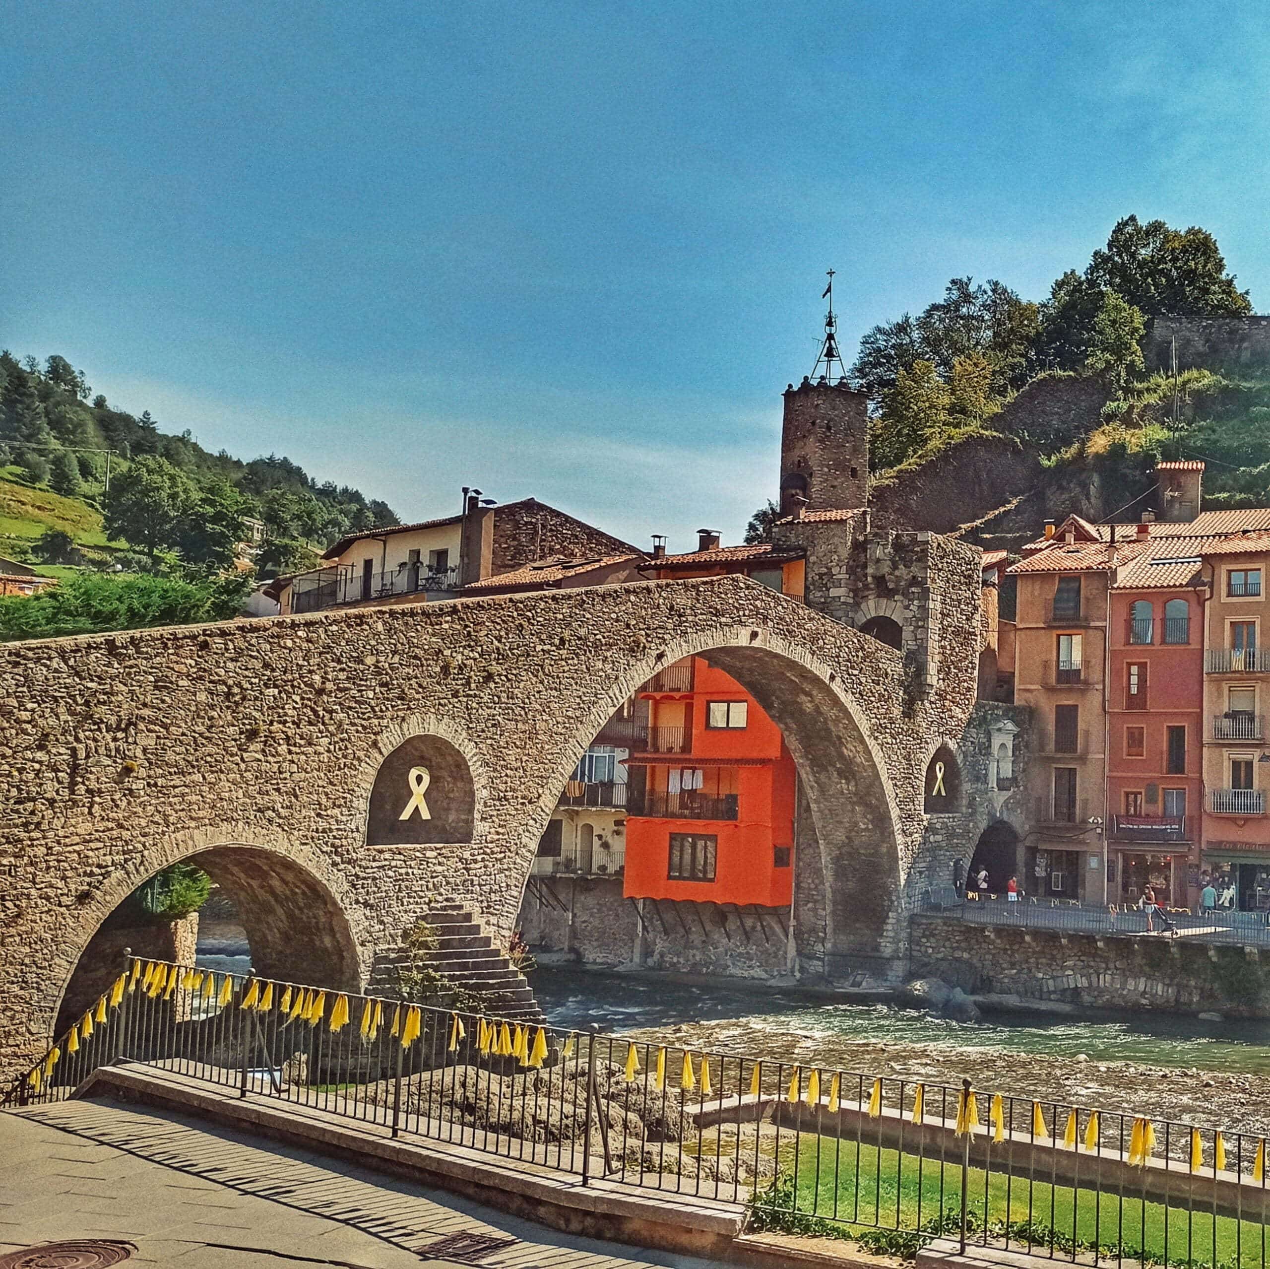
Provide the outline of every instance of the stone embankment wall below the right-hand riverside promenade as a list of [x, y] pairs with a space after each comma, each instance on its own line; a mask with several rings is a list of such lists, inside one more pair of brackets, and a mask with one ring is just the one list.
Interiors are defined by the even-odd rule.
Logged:
[[[970, 992], [1109, 1009], [1270, 1015], [1264, 974], [1243, 948], [912, 918], [909, 968]], [[1259, 997], [1259, 984], [1261, 992]]]

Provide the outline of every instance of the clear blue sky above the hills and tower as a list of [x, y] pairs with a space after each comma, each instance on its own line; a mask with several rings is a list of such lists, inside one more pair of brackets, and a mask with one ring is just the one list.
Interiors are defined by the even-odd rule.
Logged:
[[738, 540], [831, 264], [845, 348], [1129, 212], [1270, 304], [1264, 0], [6, 14], [0, 343], [406, 520]]

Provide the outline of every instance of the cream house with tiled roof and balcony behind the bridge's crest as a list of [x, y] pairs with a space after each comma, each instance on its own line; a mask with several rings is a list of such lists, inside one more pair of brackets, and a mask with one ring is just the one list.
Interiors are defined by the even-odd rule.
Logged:
[[[634, 579], [644, 555], [536, 498], [489, 506], [465, 492], [457, 516], [348, 534], [321, 559], [316, 569], [276, 578], [263, 593], [283, 615], [424, 603], [456, 598], [467, 587], [505, 593]], [[537, 564], [544, 570], [535, 573]]]

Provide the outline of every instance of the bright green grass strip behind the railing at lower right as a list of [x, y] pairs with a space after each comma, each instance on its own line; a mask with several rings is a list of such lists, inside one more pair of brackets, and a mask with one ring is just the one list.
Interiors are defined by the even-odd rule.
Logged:
[[[960, 1227], [961, 1167], [900, 1156], [853, 1141], [804, 1141], [781, 1161], [777, 1181], [756, 1195], [752, 1225], [789, 1233], [851, 1237], [879, 1252], [911, 1258]], [[1176, 1179], [1184, 1200], [1186, 1179]], [[1041, 1178], [968, 1172], [970, 1227], [982, 1241], [1045, 1254], [1102, 1254], [1148, 1264], [1264, 1265], [1270, 1230], [1212, 1212], [1144, 1200], [1126, 1188], [1076, 1189]], [[1022, 1247], [1017, 1247], [1022, 1244]]]

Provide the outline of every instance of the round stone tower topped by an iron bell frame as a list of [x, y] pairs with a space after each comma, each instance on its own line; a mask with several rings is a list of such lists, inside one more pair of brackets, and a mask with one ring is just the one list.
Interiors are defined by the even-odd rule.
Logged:
[[869, 399], [847, 386], [833, 315], [833, 269], [824, 339], [812, 375], [785, 390], [781, 428], [782, 516], [853, 511], [869, 500]]

